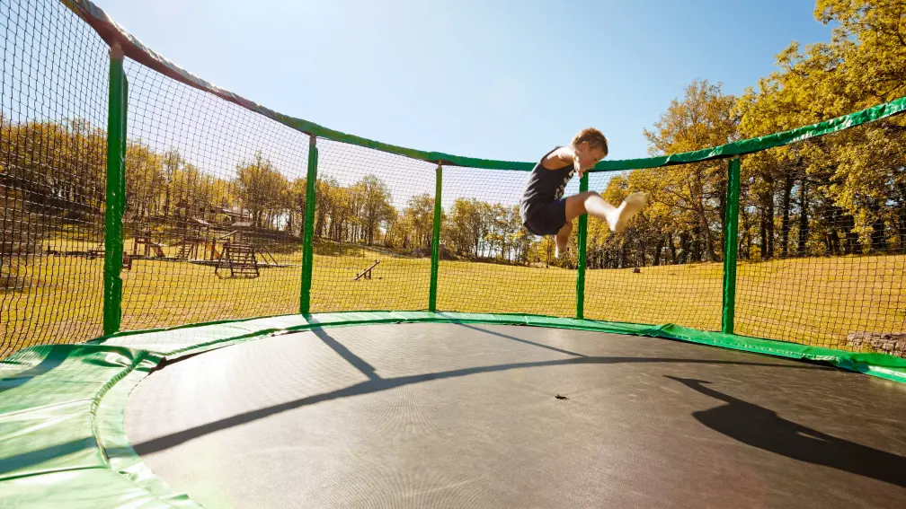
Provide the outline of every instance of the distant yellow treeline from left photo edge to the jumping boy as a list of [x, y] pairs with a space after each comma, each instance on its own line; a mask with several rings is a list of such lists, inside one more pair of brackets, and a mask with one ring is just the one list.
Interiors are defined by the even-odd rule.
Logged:
[[[106, 196], [102, 130], [85, 122], [3, 122], [0, 140], [5, 226], [0, 241], [14, 245], [5, 252], [34, 253], [66, 222], [100, 232]], [[220, 178], [178, 150], [159, 153], [130, 141], [125, 173], [124, 220], [135, 230], [172, 234], [188, 218], [198, 218], [222, 228], [243, 224], [258, 234], [282, 233], [295, 237], [292, 242], [302, 235], [305, 178], [287, 178], [260, 152], [229, 172], [232, 178]], [[429, 255], [434, 197], [410, 197], [397, 208], [387, 182], [373, 175], [349, 186], [321, 178], [316, 197], [317, 237]], [[100, 241], [101, 235], [95, 236]], [[459, 257], [522, 264], [541, 258], [516, 206], [458, 199], [444, 211], [442, 238], [446, 252]]]

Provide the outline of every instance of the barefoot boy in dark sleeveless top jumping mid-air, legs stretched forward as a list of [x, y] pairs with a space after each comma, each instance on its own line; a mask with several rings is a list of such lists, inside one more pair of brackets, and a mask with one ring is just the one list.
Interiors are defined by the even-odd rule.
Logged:
[[591, 214], [607, 221], [613, 232], [622, 232], [648, 200], [645, 193], [632, 193], [619, 207], [588, 191], [564, 199], [564, 189], [573, 173], [579, 178], [607, 157], [607, 138], [600, 130], [587, 128], [573, 137], [568, 147], [558, 147], [545, 155], [525, 179], [519, 214], [525, 229], [535, 235], [556, 235], [556, 257], [566, 252], [573, 219]]

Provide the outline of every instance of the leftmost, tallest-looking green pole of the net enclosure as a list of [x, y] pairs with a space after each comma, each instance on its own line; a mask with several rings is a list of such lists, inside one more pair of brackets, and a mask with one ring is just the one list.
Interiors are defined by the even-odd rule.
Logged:
[[122, 320], [122, 216], [126, 206], [126, 73], [119, 44], [110, 50], [107, 113], [107, 182], [104, 211], [104, 335], [120, 331]]

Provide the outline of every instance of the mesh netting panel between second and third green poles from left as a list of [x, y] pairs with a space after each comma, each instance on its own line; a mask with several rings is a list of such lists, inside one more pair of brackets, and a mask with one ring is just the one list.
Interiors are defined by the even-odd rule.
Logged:
[[434, 168], [318, 139], [312, 312], [428, 309]]

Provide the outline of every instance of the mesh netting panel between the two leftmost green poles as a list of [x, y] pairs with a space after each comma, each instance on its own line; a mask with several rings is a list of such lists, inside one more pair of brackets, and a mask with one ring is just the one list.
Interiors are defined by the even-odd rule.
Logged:
[[123, 329], [298, 312], [308, 136], [125, 69]]

